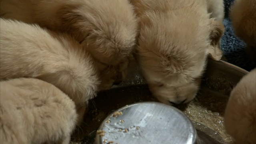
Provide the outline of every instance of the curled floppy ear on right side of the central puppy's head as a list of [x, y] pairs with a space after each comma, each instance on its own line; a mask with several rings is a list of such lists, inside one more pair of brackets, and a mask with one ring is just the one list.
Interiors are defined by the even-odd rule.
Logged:
[[209, 56], [213, 60], [220, 60], [222, 58], [222, 50], [220, 49], [220, 40], [224, 34], [224, 25], [210, 18], [210, 49]]

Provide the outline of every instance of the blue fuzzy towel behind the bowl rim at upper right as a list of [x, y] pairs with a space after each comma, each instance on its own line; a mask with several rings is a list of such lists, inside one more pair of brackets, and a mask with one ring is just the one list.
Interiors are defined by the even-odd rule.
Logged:
[[221, 48], [229, 63], [250, 71], [256, 67], [256, 63], [249, 58], [246, 52], [246, 44], [234, 34], [228, 16], [230, 6], [232, 6], [233, 2], [234, 0], [224, 0], [225, 19], [223, 24], [226, 30], [221, 40]]

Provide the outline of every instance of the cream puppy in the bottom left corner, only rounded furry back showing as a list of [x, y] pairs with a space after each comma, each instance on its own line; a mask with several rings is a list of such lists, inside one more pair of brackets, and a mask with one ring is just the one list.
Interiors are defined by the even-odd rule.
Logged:
[[74, 102], [39, 79], [0, 82], [1, 144], [69, 144], [75, 128]]

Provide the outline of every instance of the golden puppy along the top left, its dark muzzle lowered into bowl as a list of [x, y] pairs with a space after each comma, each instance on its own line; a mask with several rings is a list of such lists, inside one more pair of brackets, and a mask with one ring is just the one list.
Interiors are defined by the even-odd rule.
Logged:
[[71, 34], [98, 60], [103, 77], [125, 77], [138, 25], [128, 0], [1, 0], [0, 14]]

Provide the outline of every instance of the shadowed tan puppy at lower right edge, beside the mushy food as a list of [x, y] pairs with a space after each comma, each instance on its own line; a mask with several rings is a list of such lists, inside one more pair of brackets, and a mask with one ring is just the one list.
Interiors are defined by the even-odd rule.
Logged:
[[232, 90], [224, 126], [237, 144], [256, 144], [256, 69], [244, 76]]

